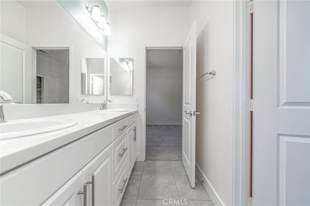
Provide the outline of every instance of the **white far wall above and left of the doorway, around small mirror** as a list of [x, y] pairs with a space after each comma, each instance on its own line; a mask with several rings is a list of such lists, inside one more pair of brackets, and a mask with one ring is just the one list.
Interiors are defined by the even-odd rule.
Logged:
[[[114, 96], [114, 102], [134, 103], [134, 96], [139, 95], [139, 113], [144, 116], [143, 46], [182, 46], [190, 27], [189, 16], [190, 8], [109, 9], [109, 58], [132, 58], [134, 62], [133, 95]], [[145, 130], [143, 125], [141, 130]], [[140, 137], [138, 132], [138, 145]]]

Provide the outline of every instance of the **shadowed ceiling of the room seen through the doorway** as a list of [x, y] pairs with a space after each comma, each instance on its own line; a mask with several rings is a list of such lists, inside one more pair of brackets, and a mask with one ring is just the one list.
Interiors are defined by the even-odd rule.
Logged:
[[182, 49], [148, 49], [146, 50], [146, 66], [150, 67], [167, 67], [182, 68], [183, 52], [177, 51]]

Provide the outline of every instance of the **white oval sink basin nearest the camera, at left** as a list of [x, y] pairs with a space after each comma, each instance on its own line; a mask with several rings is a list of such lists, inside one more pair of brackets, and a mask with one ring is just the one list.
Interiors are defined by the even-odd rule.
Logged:
[[0, 125], [0, 139], [3, 140], [51, 132], [76, 124], [78, 124], [78, 122], [70, 118], [12, 120]]

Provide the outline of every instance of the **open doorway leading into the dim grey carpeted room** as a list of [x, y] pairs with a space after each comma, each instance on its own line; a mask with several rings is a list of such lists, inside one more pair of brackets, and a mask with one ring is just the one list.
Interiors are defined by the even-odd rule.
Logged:
[[182, 160], [183, 48], [146, 49], [146, 160]]

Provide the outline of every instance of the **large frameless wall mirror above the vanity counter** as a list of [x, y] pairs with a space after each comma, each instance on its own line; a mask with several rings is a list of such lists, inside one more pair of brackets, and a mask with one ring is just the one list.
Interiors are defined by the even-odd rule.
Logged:
[[100, 11], [108, 9], [104, 1], [61, 2], [0, 0], [0, 90], [13, 98], [9, 102], [76, 103], [86, 98], [99, 103], [106, 98], [107, 37], [86, 6], [98, 3]]

